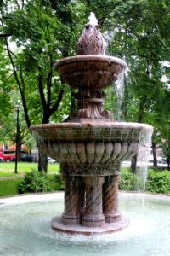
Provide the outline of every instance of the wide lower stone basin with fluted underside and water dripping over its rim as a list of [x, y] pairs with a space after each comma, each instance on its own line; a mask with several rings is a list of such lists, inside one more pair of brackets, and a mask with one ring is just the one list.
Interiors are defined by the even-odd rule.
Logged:
[[[104, 168], [127, 160], [147, 141], [150, 125], [102, 122], [32, 125], [42, 150], [61, 164]], [[83, 166], [82, 166], [83, 169]], [[74, 172], [74, 171], [73, 171]], [[85, 170], [84, 172], [87, 172]]]

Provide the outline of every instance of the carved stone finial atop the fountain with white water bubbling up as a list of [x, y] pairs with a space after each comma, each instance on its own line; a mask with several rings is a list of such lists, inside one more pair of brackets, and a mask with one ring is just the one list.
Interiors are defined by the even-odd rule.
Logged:
[[78, 55], [105, 55], [105, 39], [99, 32], [98, 20], [94, 12], [88, 17], [89, 22], [83, 27], [82, 35], [78, 39]]

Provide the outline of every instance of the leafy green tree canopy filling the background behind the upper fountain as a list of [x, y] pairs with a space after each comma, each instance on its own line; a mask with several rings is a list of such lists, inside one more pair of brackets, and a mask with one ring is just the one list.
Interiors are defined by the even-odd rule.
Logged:
[[108, 44], [107, 54], [127, 61], [122, 119], [153, 125], [164, 145], [170, 136], [168, 2], [1, 1], [0, 121], [14, 107], [11, 90], [20, 92], [28, 127], [62, 121], [71, 112], [73, 94], [54, 72], [54, 61], [76, 55], [77, 38], [94, 11]]

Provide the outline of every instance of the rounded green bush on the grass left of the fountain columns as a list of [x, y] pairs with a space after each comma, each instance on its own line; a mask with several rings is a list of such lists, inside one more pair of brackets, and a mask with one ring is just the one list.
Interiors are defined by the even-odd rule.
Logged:
[[20, 181], [17, 189], [20, 194], [26, 192], [47, 192], [51, 190], [47, 174], [45, 172], [38, 172], [37, 170], [26, 172], [26, 176]]

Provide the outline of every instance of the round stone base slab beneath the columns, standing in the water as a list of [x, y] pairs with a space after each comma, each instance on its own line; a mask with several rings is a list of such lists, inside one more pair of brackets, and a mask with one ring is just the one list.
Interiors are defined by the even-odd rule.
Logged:
[[52, 218], [51, 227], [54, 231], [85, 236], [114, 233], [127, 228], [129, 219], [125, 216], [115, 223], [105, 223], [103, 227], [85, 227], [79, 224], [65, 225], [59, 217]]

